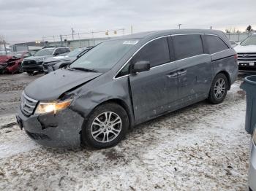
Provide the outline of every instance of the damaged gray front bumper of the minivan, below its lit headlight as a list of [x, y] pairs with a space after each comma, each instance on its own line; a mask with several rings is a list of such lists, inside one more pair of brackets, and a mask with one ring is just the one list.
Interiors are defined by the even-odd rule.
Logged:
[[79, 147], [84, 118], [72, 109], [56, 114], [33, 114], [27, 117], [20, 108], [17, 121], [31, 139], [45, 147]]

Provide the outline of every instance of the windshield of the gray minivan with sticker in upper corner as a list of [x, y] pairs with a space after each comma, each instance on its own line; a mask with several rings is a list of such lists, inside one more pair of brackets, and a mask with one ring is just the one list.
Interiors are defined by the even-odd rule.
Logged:
[[102, 42], [78, 58], [69, 67], [108, 71], [137, 43], [138, 39]]

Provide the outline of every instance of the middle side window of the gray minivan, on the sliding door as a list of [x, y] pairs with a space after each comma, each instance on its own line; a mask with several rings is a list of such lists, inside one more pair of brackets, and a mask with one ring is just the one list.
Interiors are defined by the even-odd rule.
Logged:
[[176, 60], [203, 54], [200, 34], [172, 36]]

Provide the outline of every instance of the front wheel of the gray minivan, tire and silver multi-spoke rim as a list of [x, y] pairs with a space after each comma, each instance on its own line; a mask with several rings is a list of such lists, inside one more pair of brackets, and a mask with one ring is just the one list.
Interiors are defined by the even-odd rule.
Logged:
[[96, 149], [105, 149], [118, 144], [127, 133], [129, 118], [124, 108], [108, 103], [97, 106], [84, 122], [81, 140]]

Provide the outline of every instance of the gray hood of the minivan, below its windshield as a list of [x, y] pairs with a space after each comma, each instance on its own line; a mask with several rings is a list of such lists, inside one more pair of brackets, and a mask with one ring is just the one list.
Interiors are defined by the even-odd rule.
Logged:
[[39, 101], [55, 101], [68, 90], [99, 77], [102, 73], [59, 69], [31, 82], [25, 93]]

